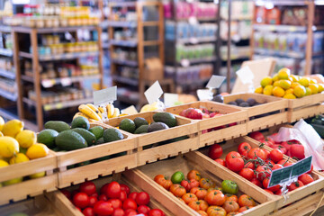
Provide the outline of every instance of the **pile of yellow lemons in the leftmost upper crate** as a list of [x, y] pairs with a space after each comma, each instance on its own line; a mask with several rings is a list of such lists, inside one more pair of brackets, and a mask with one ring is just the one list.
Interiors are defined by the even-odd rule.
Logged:
[[[46, 157], [49, 154], [49, 148], [46, 145], [36, 143], [36, 133], [23, 130], [23, 126], [23, 121], [19, 120], [4, 123], [4, 119], [0, 116], [0, 170], [2, 166], [23, 163], [31, 159]], [[29, 177], [36, 178], [44, 175], [45, 172], [40, 172]], [[22, 181], [23, 177], [14, 178], [0, 183], [0, 187]]]

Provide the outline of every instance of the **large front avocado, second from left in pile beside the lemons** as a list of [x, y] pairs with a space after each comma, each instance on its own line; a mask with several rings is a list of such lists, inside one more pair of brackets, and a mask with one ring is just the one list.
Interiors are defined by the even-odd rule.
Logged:
[[55, 139], [55, 143], [59, 149], [67, 151], [87, 147], [85, 139], [73, 130], [60, 132]]

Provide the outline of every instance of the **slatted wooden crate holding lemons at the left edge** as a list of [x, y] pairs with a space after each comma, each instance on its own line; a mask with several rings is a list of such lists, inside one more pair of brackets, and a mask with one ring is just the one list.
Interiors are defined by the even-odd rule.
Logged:
[[36, 196], [44, 191], [56, 190], [58, 176], [54, 174], [54, 169], [57, 167], [57, 157], [51, 150], [49, 150], [49, 155], [47, 157], [0, 167], [0, 182], [44, 171], [46, 172], [46, 175], [43, 177], [26, 179], [21, 183], [0, 187], [0, 205], [21, 201], [26, 199], [27, 196]]

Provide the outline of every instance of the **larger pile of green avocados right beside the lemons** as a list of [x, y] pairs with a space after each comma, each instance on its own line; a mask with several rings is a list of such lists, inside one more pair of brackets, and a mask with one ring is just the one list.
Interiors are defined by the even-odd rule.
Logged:
[[45, 130], [37, 135], [37, 141], [54, 151], [70, 151], [123, 139], [120, 130], [95, 126], [90, 129], [89, 121], [76, 117], [71, 127], [64, 121], [48, 121]]

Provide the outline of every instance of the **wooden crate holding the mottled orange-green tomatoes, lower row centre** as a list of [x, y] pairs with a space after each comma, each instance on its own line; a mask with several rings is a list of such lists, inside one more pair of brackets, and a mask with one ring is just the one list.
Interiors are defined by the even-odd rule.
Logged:
[[[172, 193], [166, 191], [165, 188], [153, 180], [159, 174], [170, 177], [175, 171], [182, 171], [186, 175], [192, 169], [198, 170], [202, 176], [210, 178], [216, 183], [216, 186], [220, 186], [221, 182], [225, 179], [233, 180], [233, 175], [226, 170], [222, 170], [219, 166], [214, 166], [210, 161], [197, 160], [197, 157], [192, 157], [196, 155], [196, 151], [192, 151], [184, 156], [169, 158], [146, 166], [140, 166], [136, 169], [127, 170], [125, 175], [144, 187], [148, 193], [156, 194], [157, 202], [162, 203], [175, 215], [197, 215], [189, 206], [179, 201]], [[272, 202], [269, 202], [272, 199], [271, 194], [261, 192], [257, 186], [250, 186], [244, 179], [238, 179], [237, 184], [239, 188], [238, 194], [247, 193], [258, 203], [255, 208], [245, 211], [247, 215], [264, 215], [266, 211], [270, 212], [274, 209], [275, 206], [273, 206]], [[248, 214], [251, 211], [254, 214]]]

